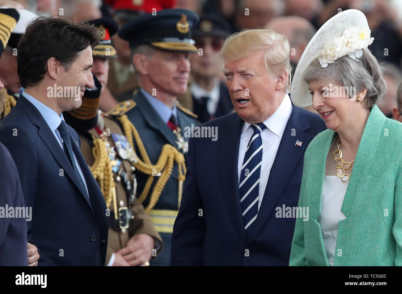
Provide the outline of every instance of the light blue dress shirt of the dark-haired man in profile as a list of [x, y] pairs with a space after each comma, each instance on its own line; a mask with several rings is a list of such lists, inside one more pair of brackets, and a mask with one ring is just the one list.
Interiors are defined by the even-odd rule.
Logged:
[[[38, 100], [33, 98], [31, 95], [29, 95], [25, 91], [23, 92], [23, 96], [25, 98], [27, 98], [27, 100], [29, 102], [31, 102], [33, 104], [33, 106], [35, 106], [37, 108], [37, 110], [39, 110], [39, 112], [41, 113], [41, 115], [45, 119], [47, 125], [49, 126], [50, 130], [52, 131], [53, 135], [56, 137], [57, 142], [59, 142], [60, 147], [62, 147], [62, 149], [64, 151], [64, 144], [63, 144], [64, 142], [63, 142], [62, 136], [59, 133], [59, 130], [57, 130], [57, 128], [59, 127], [59, 125], [62, 122], [62, 120], [64, 120], [63, 113], [58, 115], [53, 109], [51, 109], [51, 108], [47, 107], [45, 104], [39, 102]], [[71, 144], [75, 144], [75, 142], [71, 141]], [[74, 154], [74, 152], [73, 152], [73, 154]], [[78, 169], [78, 171], [80, 173], [80, 176], [82, 178], [82, 182], [84, 182], [86, 193], [89, 195], [88, 187], [86, 186], [86, 181], [85, 181], [84, 174], [82, 174], [80, 163], [78, 163], [78, 160], [77, 160], [77, 157], [76, 157], [75, 154], [74, 154], [74, 160], [76, 162], [77, 169]]]

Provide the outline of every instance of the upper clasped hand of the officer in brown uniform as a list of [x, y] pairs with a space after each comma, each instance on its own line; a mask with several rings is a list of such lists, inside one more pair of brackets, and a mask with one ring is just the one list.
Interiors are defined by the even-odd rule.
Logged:
[[152, 255], [155, 241], [148, 234], [138, 234], [131, 237], [127, 242], [127, 246], [117, 251], [131, 265], [145, 265]]

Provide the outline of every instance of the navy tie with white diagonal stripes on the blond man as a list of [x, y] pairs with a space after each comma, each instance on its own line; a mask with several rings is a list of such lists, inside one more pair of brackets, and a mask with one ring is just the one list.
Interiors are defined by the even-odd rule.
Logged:
[[244, 155], [239, 184], [240, 204], [246, 235], [258, 214], [258, 189], [263, 160], [263, 140], [260, 133], [266, 128], [262, 122], [251, 126], [254, 129], [254, 133], [248, 142], [246, 154]]

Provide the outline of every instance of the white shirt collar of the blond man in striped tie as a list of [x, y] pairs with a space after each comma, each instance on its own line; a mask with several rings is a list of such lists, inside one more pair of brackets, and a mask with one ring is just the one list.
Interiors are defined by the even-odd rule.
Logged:
[[[285, 98], [283, 98], [281, 105], [279, 105], [278, 109], [272, 114], [269, 118], [263, 121], [264, 125], [270, 129], [275, 135], [278, 137], [282, 137], [283, 131], [285, 131], [285, 127], [287, 124], [287, 120], [292, 113], [293, 106], [290, 101], [289, 95], [286, 94]], [[250, 127], [250, 122], [244, 122], [242, 135], [247, 131], [248, 127]]]

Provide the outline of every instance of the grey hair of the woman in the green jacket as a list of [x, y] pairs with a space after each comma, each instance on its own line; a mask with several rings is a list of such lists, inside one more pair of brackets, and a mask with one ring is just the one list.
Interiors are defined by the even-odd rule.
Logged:
[[347, 89], [349, 97], [363, 89], [367, 90], [363, 105], [371, 110], [386, 93], [387, 84], [384, 79], [384, 67], [378, 64], [377, 59], [368, 49], [363, 49], [363, 55], [358, 59], [343, 56], [321, 67], [318, 59], [304, 71], [304, 81], [309, 84], [313, 80], [334, 81]]

